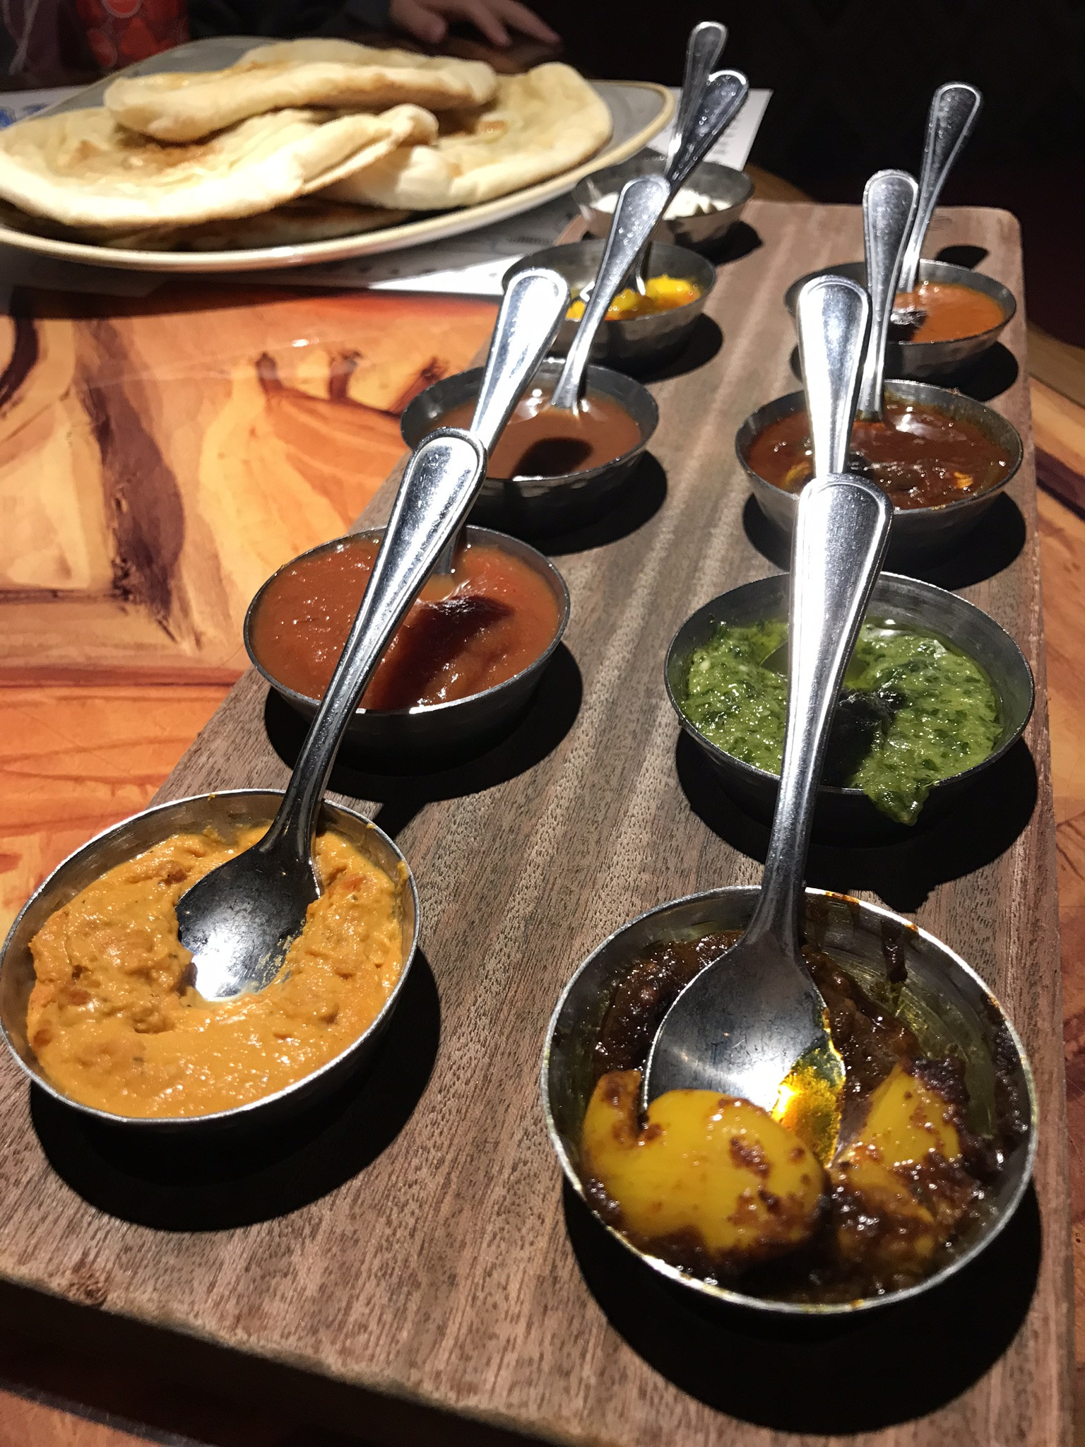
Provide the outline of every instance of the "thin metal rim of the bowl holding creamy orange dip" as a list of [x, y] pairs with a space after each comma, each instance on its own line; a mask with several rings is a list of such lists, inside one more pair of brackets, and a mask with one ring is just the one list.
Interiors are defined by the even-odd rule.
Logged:
[[[14, 917], [14, 920], [12, 922], [12, 928], [9, 929], [7, 935], [4, 936], [3, 945], [0, 945], [0, 968], [3, 968], [3, 962], [7, 958], [7, 948], [12, 943], [12, 939], [14, 938], [14, 935], [16, 935], [16, 932], [17, 932], [20, 923], [22, 923], [23, 915], [26, 915], [26, 912], [39, 899], [39, 896], [45, 893], [45, 890], [56, 878], [56, 875], [64, 868], [67, 868], [74, 860], [77, 860], [81, 854], [90, 854], [90, 852], [93, 852], [100, 844], [103, 844], [104, 839], [107, 839], [111, 833], [116, 833], [119, 829], [123, 829], [126, 825], [132, 823], [133, 819], [142, 819], [145, 816], [149, 818], [150, 815], [156, 815], [156, 813], [166, 813], [168, 810], [175, 809], [178, 805], [191, 805], [191, 803], [197, 803], [201, 799], [204, 799], [204, 800], [207, 800], [207, 799], [239, 799], [239, 797], [244, 797], [244, 796], [268, 797], [269, 794], [275, 796], [275, 797], [278, 797], [281, 800], [282, 794], [284, 794], [284, 790], [282, 789], [216, 789], [211, 793], [205, 793], [205, 794], [185, 794], [184, 799], [169, 799], [165, 803], [152, 805], [148, 809], [140, 809], [136, 813], [129, 815], [126, 819], [120, 819], [117, 823], [110, 825], [107, 829], [101, 829], [91, 839], [87, 839], [85, 844], [81, 844], [78, 846], [78, 849], [72, 849], [72, 852], [69, 855], [67, 855], [64, 860], [61, 860], [61, 862], [46, 874], [46, 877], [42, 880], [42, 883], [38, 886], [38, 888], [33, 891], [33, 894], [27, 899], [27, 901], [19, 910], [19, 913]], [[378, 1011], [376, 1017], [362, 1032], [362, 1035], [357, 1036], [356, 1040], [352, 1040], [350, 1045], [347, 1045], [344, 1049], [341, 1049], [339, 1052], [339, 1055], [336, 1055], [330, 1061], [326, 1061], [315, 1071], [310, 1071], [308, 1075], [302, 1075], [299, 1079], [291, 1081], [289, 1085], [284, 1085], [282, 1090], [275, 1091], [272, 1095], [260, 1095], [258, 1100], [244, 1101], [242, 1106], [231, 1106], [229, 1110], [216, 1110], [216, 1111], [211, 1111], [210, 1114], [205, 1114], [205, 1116], [119, 1116], [119, 1114], [114, 1114], [110, 1110], [98, 1110], [97, 1106], [84, 1106], [81, 1101], [74, 1100], [71, 1095], [65, 1095], [62, 1090], [58, 1090], [45, 1077], [45, 1074], [36, 1075], [30, 1069], [30, 1066], [26, 1064], [26, 1061], [23, 1061], [23, 1058], [16, 1051], [14, 1042], [12, 1040], [10, 1035], [7, 1033], [7, 1026], [4, 1024], [3, 1017], [0, 1017], [0, 1033], [3, 1033], [4, 1045], [7, 1046], [12, 1058], [14, 1059], [16, 1065], [23, 1072], [23, 1075], [27, 1078], [27, 1081], [30, 1082], [30, 1085], [36, 1085], [39, 1090], [43, 1090], [48, 1095], [52, 1095], [52, 1098], [56, 1100], [56, 1101], [59, 1101], [62, 1106], [67, 1106], [71, 1110], [78, 1110], [84, 1116], [91, 1116], [94, 1120], [104, 1121], [104, 1123], [107, 1123], [110, 1126], [135, 1126], [136, 1129], [140, 1129], [140, 1130], [163, 1130], [163, 1129], [172, 1129], [172, 1130], [185, 1129], [187, 1130], [187, 1129], [198, 1129], [201, 1126], [214, 1126], [214, 1124], [223, 1124], [226, 1121], [242, 1120], [242, 1119], [249, 1117], [253, 1111], [260, 1110], [262, 1107], [271, 1106], [275, 1101], [285, 1100], [288, 1095], [292, 1095], [295, 1091], [301, 1090], [302, 1087], [308, 1087], [314, 1081], [320, 1079], [321, 1075], [327, 1075], [331, 1069], [334, 1069], [337, 1065], [340, 1065], [340, 1062], [347, 1055], [350, 1055], [353, 1051], [359, 1049], [359, 1046], [365, 1040], [367, 1040], [379, 1027], [382, 1027], [383, 1023], [385, 1023], [385, 1020], [386, 1020], [386, 1017], [391, 1014], [392, 1009], [395, 1007], [395, 1003], [396, 1003], [396, 1000], [399, 997], [399, 991], [404, 987], [404, 981], [407, 980], [408, 974], [411, 972], [411, 965], [414, 964], [415, 955], [418, 954], [418, 936], [421, 933], [421, 904], [420, 904], [420, 900], [418, 900], [418, 886], [415, 883], [414, 871], [412, 871], [411, 865], [407, 862], [407, 858], [405, 858], [402, 849], [395, 842], [395, 839], [389, 838], [389, 835], [385, 833], [385, 831], [380, 828], [380, 825], [373, 823], [372, 819], [369, 819], [366, 815], [360, 813], [357, 809], [350, 809], [350, 807], [347, 807], [347, 805], [336, 803], [336, 800], [333, 800], [333, 799], [321, 799], [321, 807], [324, 805], [328, 805], [331, 809], [339, 809], [343, 813], [350, 815], [352, 818], [357, 819], [360, 823], [366, 825], [366, 828], [373, 829], [373, 831], [376, 831], [376, 833], [380, 835], [380, 838], [383, 839], [383, 842], [389, 846], [389, 849], [398, 858], [398, 861], [402, 865], [402, 868], [407, 871], [407, 884], [409, 887], [411, 901], [412, 901], [412, 906], [414, 906], [414, 932], [412, 932], [412, 936], [411, 936], [411, 948], [407, 952], [407, 958], [404, 959], [404, 967], [399, 971], [399, 978], [392, 985], [392, 990], [389, 991], [389, 996], [385, 1000], [385, 1003], [380, 1006], [380, 1010]], [[163, 835], [163, 838], [168, 838], [168, 835]], [[148, 845], [148, 848], [152, 848], [152, 845]]]

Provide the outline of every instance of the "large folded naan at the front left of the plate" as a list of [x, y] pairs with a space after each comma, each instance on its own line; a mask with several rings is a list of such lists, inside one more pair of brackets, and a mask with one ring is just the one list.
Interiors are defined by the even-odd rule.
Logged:
[[0, 133], [0, 197], [65, 226], [192, 226], [269, 211], [435, 133], [418, 106], [382, 116], [278, 110], [179, 146], [127, 130], [107, 110], [69, 110]]

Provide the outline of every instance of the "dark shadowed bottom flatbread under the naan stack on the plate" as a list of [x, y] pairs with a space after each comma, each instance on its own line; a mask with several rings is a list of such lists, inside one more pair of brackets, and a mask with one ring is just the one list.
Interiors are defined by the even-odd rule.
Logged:
[[[137, 232], [78, 233], [78, 240], [95, 246], [139, 252], [233, 252], [263, 246], [298, 246], [327, 242], [336, 236], [357, 236], [398, 226], [409, 211], [389, 211], [383, 205], [349, 205], [304, 197], [236, 220], [205, 221], [203, 226], [155, 226]], [[69, 233], [74, 234], [74, 233]]]

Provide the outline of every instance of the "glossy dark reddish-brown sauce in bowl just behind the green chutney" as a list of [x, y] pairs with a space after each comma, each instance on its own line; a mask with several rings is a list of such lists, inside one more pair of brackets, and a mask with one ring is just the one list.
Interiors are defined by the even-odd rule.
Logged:
[[[806, 408], [762, 428], [748, 462], [774, 488], [801, 492], [813, 476]], [[894, 508], [939, 508], [994, 488], [1010, 453], [972, 423], [887, 398], [884, 421], [855, 423], [848, 467], [877, 482]]]

